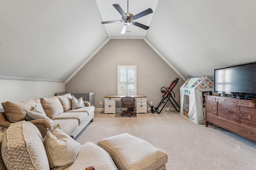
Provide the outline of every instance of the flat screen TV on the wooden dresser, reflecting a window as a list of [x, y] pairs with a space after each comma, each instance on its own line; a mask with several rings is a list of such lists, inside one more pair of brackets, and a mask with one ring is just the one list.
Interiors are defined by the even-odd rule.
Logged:
[[214, 69], [214, 91], [230, 97], [256, 96], [256, 62]]

